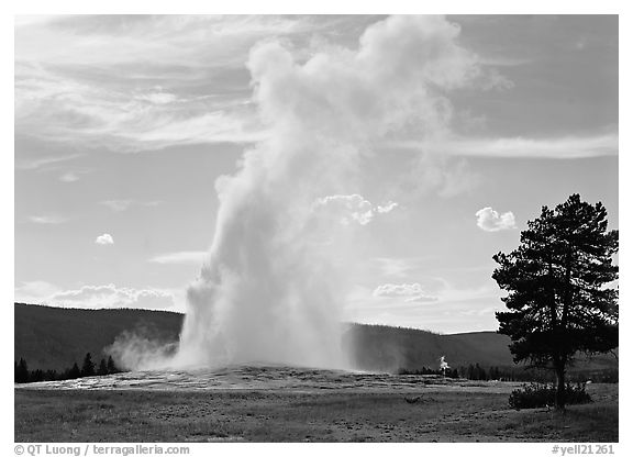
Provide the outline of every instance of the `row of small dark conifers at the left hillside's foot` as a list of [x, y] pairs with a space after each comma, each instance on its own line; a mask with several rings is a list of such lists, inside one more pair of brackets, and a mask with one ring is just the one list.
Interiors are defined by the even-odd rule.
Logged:
[[92, 361], [92, 356], [90, 353], [86, 354], [84, 363], [81, 364], [81, 368], [79, 368], [79, 365], [77, 365], [75, 361], [73, 367], [66, 368], [63, 371], [42, 369], [30, 370], [26, 360], [22, 357], [20, 358], [20, 361], [13, 361], [13, 368], [16, 383], [63, 381], [66, 379], [77, 379], [89, 376], [106, 376], [121, 372], [121, 370], [114, 364], [112, 356], [108, 356], [107, 359], [102, 358], [99, 363], [99, 366], [97, 366]]

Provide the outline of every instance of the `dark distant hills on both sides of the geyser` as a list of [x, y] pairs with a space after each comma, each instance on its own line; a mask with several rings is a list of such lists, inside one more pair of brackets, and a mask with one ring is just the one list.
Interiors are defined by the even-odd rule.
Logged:
[[[143, 331], [162, 342], [175, 342], [182, 314], [148, 310], [76, 310], [15, 303], [14, 358], [23, 357], [31, 369], [57, 369], [81, 363], [86, 353], [95, 360], [125, 331]], [[437, 368], [445, 356], [452, 367], [512, 366], [510, 338], [495, 332], [438, 335], [413, 328], [347, 324], [344, 345], [356, 368], [393, 371], [398, 368]], [[577, 369], [617, 368], [612, 355], [578, 364]]]

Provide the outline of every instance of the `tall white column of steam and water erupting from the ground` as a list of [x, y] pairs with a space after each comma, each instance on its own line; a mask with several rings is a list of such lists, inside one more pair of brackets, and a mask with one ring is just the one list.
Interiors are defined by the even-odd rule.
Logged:
[[376, 145], [403, 131], [422, 140], [443, 131], [443, 92], [478, 74], [458, 34], [441, 16], [393, 16], [369, 26], [354, 51], [324, 47], [301, 63], [278, 42], [251, 51], [267, 136], [216, 181], [213, 242], [168, 365], [347, 366], [345, 285], [324, 243], [346, 228], [320, 223], [313, 203], [353, 193]]

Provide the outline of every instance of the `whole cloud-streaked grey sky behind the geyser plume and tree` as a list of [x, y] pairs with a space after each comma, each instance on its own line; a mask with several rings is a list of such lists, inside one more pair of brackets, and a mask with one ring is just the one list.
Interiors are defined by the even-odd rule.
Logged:
[[[308, 73], [314, 56], [368, 47], [385, 20], [18, 16], [15, 301], [184, 311], [219, 178], [269, 135], [253, 49], [278, 42]], [[445, 21], [440, 58], [404, 46], [402, 62], [438, 63], [420, 76], [433, 91], [420, 115], [367, 145], [354, 179], [313, 204], [356, 246], [347, 321], [496, 330], [492, 255], [515, 248], [542, 205], [578, 192], [618, 228], [618, 18]], [[376, 90], [390, 100], [390, 86]]]

